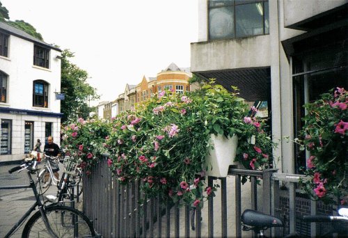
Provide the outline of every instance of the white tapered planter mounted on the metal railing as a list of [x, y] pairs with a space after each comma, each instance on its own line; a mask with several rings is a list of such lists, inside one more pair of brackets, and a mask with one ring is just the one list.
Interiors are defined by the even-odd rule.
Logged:
[[211, 134], [210, 140], [214, 150], [209, 150], [205, 157], [206, 175], [227, 177], [228, 167], [235, 164], [238, 137], [234, 135], [232, 138], [226, 138], [222, 135], [215, 136]]

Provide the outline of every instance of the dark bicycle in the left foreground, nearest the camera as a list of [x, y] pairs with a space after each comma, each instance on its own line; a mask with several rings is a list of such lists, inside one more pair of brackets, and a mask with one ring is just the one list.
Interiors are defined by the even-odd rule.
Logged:
[[13, 228], [6, 234], [5, 238], [13, 235], [30, 214], [38, 209], [26, 222], [22, 237], [95, 237], [93, 224], [87, 216], [77, 209], [67, 207], [63, 204], [53, 204], [46, 206], [41, 202], [40, 194], [36, 189], [36, 184], [32, 175], [37, 173], [37, 161], [25, 161], [21, 166], [16, 166], [8, 170], [13, 173], [18, 170], [26, 170], [29, 177], [29, 185], [4, 186], [0, 189], [25, 189], [31, 188], [35, 196], [35, 203], [19, 219]]

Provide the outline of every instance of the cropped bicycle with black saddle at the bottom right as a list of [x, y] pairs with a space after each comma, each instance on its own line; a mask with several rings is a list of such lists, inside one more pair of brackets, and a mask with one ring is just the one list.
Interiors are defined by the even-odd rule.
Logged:
[[[303, 216], [303, 221], [306, 222], [344, 222], [348, 223], [348, 208], [340, 208], [338, 210], [338, 214], [340, 216], [322, 216], [322, 215], [315, 215], [315, 216]], [[270, 216], [267, 214], [263, 214], [262, 212], [257, 212], [251, 209], [246, 209], [242, 216], [242, 226], [243, 230], [253, 230], [256, 237], [266, 237], [264, 235], [264, 230], [267, 230], [268, 228], [274, 228], [274, 227], [284, 227], [283, 221], [278, 219], [276, 216]], [[348, 236], [348, 230], [347, 225], [342, 226], [343, 229], [342, 237]], [[327, 237], [329, 234], [337, 233], [338, 230], [333, 230], [328, 232], [328, 234], [325, 234], [323, 237]], [[301, 234], [292, 233], [289, 235], [286, 235], [284, 237], [290, 238], [290, 237], [301, 237]], [[332, 237], [332, 236], [331, 236]], [[339, 236], [340, 237], [340, 236]]]

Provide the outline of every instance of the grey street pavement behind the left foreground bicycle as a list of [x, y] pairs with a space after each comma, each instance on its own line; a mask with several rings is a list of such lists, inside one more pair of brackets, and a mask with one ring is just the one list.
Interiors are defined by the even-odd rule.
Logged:
[[[9, 185], [29, 185], [29, 179], [25, 170], [21, 173], [8, 173], [8, 170], [15, 166], [17, 166], [17, 164], [0, 164], [0, 187]], [[62, 166], [63, 165], [60, 164], [60, 173], [63, 171]], [[51, 186], [45, 195], [56, 195], [57, 191], [56, 186]], [[33, 203], [35, 203], [35, 197], [31, 189], [0, 189], [0, 237], [5, 237], [8, 231], [28, 211]], [[33, 214], [34, 212], [32, 212], [29, 217]], [[24, 221], [22, 226], [19, 227], [19, 230], [17, 230], [11, 238], [19, 238], [22, 236], [25, 223], [26, 221]]]

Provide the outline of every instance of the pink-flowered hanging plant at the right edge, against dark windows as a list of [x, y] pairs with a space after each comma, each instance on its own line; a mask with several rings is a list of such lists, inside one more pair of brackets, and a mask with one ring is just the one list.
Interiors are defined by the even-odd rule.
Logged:
[[[308, 103], [308, 114], [301, 130], [303, 150], [310, 152], [303, 189], [326, 203], [348, 202], [348, 94], [335, 88]], [[313, 194], [314, 193], [314, 194]]]

